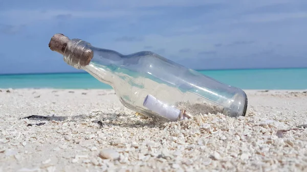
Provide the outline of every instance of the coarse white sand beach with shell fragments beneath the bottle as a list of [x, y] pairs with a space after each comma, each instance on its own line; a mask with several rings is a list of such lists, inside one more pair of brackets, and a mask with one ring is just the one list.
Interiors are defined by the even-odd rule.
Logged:
[[[136, 116], [113, 90], [1, 90], [0, 171], [307, 171], [302, 90], [247, 90], [246, 117], [166, 124]], [[29, 115], [51, 118], [19, 119]]]

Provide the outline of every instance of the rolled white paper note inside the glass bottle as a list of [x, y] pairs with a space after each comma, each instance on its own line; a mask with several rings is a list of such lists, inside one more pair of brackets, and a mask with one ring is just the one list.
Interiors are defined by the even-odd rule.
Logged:
[[[171, 121], [177, 121], [178, 120], [178, 116], [181, 113], [181, 110], [171, 107], [169, 105], [167, 105], [166, 103], [163, 103], [161, 101], [159, 101], [156, 97], [148, 94], [145, 97], [145, 100], [143, 102], [143, 106], [148, 108], [149, 110], [151, 110], [152, 112], [156, 112], [159, 115], [171, 120]], [[185, 117], [181, 117], [182, 120]]]

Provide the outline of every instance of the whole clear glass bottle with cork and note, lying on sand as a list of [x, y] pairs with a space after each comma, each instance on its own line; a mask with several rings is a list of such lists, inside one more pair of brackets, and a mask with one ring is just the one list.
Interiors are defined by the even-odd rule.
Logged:
[[178, 63], [143, 51], [122, 55], [89, 42], [55, 34], [49, 43], [64, 61], [113, 87], [128, 109], [170, 121], [199, 113], [245, 116], [247, 95]]

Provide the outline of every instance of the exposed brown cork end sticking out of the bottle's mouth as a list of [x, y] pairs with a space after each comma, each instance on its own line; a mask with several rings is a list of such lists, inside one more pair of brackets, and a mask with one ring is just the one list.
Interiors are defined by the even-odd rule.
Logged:
[[70, 39], [63, 34], [55, 34], [49, 42], [49, 48], [52, 51], [64, 55], [65, 48]]

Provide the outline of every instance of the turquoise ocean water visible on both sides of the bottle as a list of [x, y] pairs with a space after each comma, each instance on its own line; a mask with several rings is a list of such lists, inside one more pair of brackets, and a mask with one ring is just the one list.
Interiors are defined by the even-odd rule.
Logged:
[[[307, 68], [198, 71], [242, 89], [307, 89]], [[0, 75], [0, 88], [112, 89], [88, 73]]]

